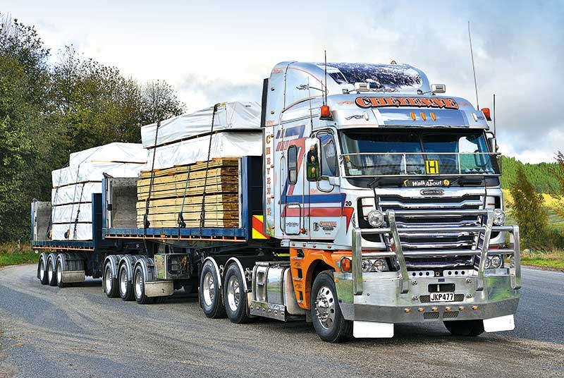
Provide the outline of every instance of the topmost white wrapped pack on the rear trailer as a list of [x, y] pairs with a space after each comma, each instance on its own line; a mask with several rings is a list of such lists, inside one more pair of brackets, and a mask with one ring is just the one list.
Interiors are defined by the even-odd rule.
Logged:
[[86, 162], [144, 163], [147, 151], [139, 143], [110, 143], [88, 150], [73, 152], [68, 159], [69, 166]]

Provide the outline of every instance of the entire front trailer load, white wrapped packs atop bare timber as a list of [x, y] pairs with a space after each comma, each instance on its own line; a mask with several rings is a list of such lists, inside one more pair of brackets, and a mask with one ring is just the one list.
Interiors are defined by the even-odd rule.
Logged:
[[137, 182], [137, 227], [145, 216], [150, 228], [239, 226], [240, 157], [262, 154], [259, 104], [227, 102], [183, 114], [143, 126], [141, 139], [154, 168]]

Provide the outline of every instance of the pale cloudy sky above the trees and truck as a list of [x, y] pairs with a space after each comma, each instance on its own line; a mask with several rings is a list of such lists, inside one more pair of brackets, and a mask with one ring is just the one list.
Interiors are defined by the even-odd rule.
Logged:
[[0, 12], [35, 25], [57, 59], [73, 44], [141, 82], [166, 80], [188, 111], [261, 98], [280, 61], [407, 63], [480, 107], [496, 94], [498, 144], [524, 162], [564, 152], [562, 1], [57, 1]]

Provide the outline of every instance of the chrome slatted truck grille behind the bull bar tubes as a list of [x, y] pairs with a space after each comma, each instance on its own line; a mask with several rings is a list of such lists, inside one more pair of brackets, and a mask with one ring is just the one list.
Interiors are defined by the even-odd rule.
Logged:
[[[401, 197], [400, 195], [380, 195], [378, 205], [381, 212], [393, 210], [460, 210], [483, 209], [484, 197], [479, 194], [466, 194], [460, 197]], [[424, 226], [479, 226], [478, 215], [449, 215], [428, 217], [419, 215], [396, 215], [398, 231], [404, 252], [417, 250], [469, 250], [476, 248], [477, 234], [469, 232], [402, 233], [402, 228]], [[385, 237], [386, 238], [386, 237]], [[389, 243], [389, 240], [385, 240]], [[408, 268], [429, 267], [470, 267], [473, 257], [405, 257]]]

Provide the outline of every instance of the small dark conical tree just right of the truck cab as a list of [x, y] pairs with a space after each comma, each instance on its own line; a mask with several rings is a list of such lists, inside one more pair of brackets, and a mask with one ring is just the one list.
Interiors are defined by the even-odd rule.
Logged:
[[519, 224], [523, 245], [544, 249], [548, 229], [548, 212], [543, 207], [544, 198], [530, 183], [525, 169], [517, 168], [515, 181], [510, 184], [513, 197], [513, 216]]

